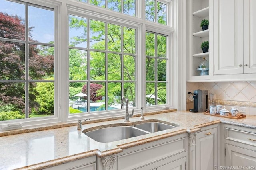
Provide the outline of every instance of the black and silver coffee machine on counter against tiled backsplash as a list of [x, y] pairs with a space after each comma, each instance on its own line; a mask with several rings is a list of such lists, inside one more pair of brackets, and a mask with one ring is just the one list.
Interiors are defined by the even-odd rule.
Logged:
[[205, 112], [208, 110], [208, 91], [207, 90], [194, 90], [194, 109], [189, 109], [190, 112]]

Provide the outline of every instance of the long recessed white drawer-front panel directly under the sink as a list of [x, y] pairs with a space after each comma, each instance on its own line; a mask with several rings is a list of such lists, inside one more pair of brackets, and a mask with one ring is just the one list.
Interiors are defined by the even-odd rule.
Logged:
[[120, 155], [117, 157], [117, 169], [131, 170], [182, 152], [186, 152], [186, 137]]

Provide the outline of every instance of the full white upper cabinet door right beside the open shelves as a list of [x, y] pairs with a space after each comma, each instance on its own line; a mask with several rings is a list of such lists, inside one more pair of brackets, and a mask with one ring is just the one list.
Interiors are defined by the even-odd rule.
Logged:
[[243, 10], [243, 0], [214, 1], [214, 74], [243, 73]]

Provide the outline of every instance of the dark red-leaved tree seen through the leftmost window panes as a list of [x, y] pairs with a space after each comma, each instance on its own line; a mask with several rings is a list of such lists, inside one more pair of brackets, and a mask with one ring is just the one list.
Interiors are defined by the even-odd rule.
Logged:
[[[29, 28], [29, 41], [33, 41]], [[24, 20], [18, 16], [11, 16], [0, 12], [0, 37], [7, 39], [25, 39]], [[28, 47], [29, 78], [41, 80], [54, 72], [54, 57], [52, 53], [42, 53], [38, 45]], [[50, 51], [50, 50], [49, 50]], [[25, 44], [10, 41], [0, 41], [0, 79], [24, 80], [25, 79]], [[38, 107], [35, 90], [36, 83], [29, 85], [29, 107]], [[24, 83], [0, 83], [0, 101], [12, 104], [24, 113], [25, 107]]]

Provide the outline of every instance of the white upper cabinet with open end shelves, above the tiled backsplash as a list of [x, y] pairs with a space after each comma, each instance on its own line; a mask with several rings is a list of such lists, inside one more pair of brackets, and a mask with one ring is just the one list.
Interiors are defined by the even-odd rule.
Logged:
[[[256, 0], [188, 0], [187, 8], [187, 80], [256, 80]], [[204, 18], [208, 31], [198, 28]], [[208, 54], [200, 51], [205, 40]], [[209, 76], [197, 71], [202, 57], [209, 61]]]

